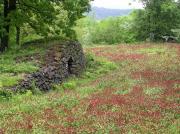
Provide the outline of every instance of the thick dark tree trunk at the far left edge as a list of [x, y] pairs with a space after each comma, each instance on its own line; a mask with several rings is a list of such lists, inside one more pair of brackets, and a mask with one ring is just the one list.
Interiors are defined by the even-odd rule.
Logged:
[[4, 0], [4, 32], [2, 34], [1, 43], [0, 43], [0, 51], [4, 52], [9, 45], [9, 29], [10, 29], [10, 21], [8, 15], [11, 11], [16, 9], [16, 0]]

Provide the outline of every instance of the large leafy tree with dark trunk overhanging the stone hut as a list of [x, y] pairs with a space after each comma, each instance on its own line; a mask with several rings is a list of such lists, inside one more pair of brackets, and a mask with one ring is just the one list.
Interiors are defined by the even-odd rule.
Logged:
[[[48, 33], [62, 28], [57, 23], [58, 15], [64, 10], [67, 12], [68, 19], [63, 31], [68, 35], [68, 30], [75, 21], [83, 16], [84, 12], [89, 11], [91, 0], [0, 0], [0, 51], [8, 48], [10, 27], [17, 29], [17, 43], [19, 42], [20, 27], [29, 25], [37, 34], [47, 36]], [[61, 11], [59, 9], [62, 9]], [[64, 13], [64, 12], [63, 12]], [[62, 21], [59, 21], [62, 22]], [[53, 30], [52, 30], [53, 29]], [[58, 30], [57, 30], [58, 31]]]

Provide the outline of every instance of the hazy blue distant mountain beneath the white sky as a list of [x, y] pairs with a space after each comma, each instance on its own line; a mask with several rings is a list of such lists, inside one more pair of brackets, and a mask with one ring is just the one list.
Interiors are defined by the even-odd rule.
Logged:
[[89, 15], [94, 15], [98, 20], [108, 17], [126, 16], [133, 11], [133, 9], [108, 9], [102, 7], [92, 7], [91, 10]]

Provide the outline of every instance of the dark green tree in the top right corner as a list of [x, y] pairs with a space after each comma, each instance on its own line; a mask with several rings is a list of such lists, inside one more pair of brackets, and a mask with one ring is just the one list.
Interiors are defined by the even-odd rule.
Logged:
[[142, 0], [145, 6], [144, 19], [148, 36], [159, 40], [163, 35], [171, 35], [171, 29], [180, 23], [178, 2], [175, 0]]

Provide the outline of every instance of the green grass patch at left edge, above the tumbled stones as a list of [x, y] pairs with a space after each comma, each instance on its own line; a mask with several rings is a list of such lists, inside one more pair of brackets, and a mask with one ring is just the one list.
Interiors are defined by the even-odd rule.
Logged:
[[[32, 50], [21, 51], [21, 54], [11, 51], [0, 57], [0, 85], [1, 87], [11, 87], [22, 80], [25, 73], [32, 73], [38, 70], [34, 62], [16, 62], [16, 57], [32, 53]], [[22, 57], [21, 57], [22, 58]], [[20, 59], [20, 58], [19, 58]]]

